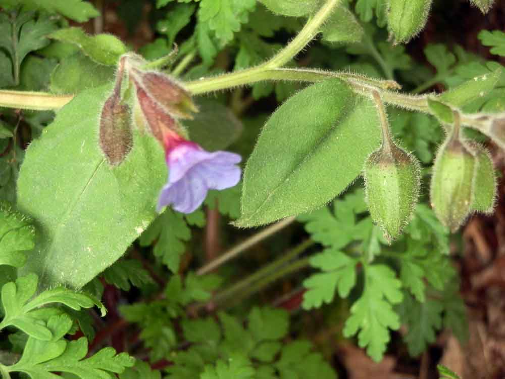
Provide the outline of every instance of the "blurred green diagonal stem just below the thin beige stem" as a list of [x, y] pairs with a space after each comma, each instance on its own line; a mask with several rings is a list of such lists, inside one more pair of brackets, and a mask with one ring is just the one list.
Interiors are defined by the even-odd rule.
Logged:
[[307, 250], [309, 247], [314, 245], [315, 242], [312, 240], [306, 240], [291, 250], [289, 250], [287, 253], [282, 254], [282, 256], [272, 263], [264, 266], [260, 270], [256, 271], [255, 273], [247, 276], [245, 279], [242, 279], [235, 283], [233, 286], [230, 288], [219, 292], [214, 298], [213, 302], [215, 303], [222, 303], [224, 300], [229, 299], [233, 296], [235, 296], [238, 293], [241, 293], [245, 291], [246, 289], [250, 288], [255, 282], [259, 281], [260, 279], [269, 276], [270, 274], [275, 274], [282, 266], [284, 266], [287, 262], [290, 260], [296, 258], [298, 255], [300, 255], [302, 252]]

